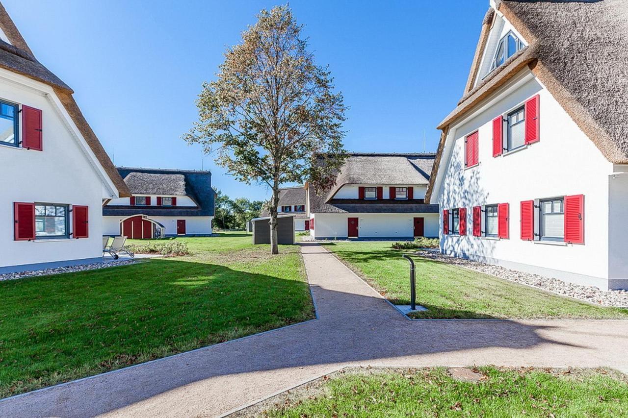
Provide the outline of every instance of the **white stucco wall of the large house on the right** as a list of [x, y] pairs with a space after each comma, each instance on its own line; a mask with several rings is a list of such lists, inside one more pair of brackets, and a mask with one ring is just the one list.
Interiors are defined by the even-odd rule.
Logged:
[[[540, 141], [515, 153], [493, 158], [492, 119], [537, 93], [541, 109]], [[440, 227], [441, 250], [604, 287], [609, 277], [609, 174], [613, 172], [613, 165], [534, 79], [462, 122], [450, 131], [448, 141], [453, 139], [453, 142], [448, 142], [443, 158], [446, 171], [431, 201], [438, 202], [441, 210], [466, 207], [468, 235], [443, 236]], [[464, 169], [464, 137], [476, 129], [479, 129], [480, 164]], [[626, 190], [625, 181], [612, 183], [611, 193], [625, 198]], [[585, 196], [585, 244], [551, 245], [521, 240], [521, 201], [579, 194]], [[510, 204], [510, 238], [473, 237], [472, 206], [495, 203]], [[616, 208], [614, 216], [625, 216], [621, 205]], [[442, 222], [442, 217], [439, 218]], [[623, 225], [626, 225], [625, 218]], [[625, 230], [626, 227], [620, 228]], [[624, 238], [617, 238], [618, 244], [625, 240], [626, 233], [622, 233]], [[622, 242], [622, 249], [626, 244]], [[614, 265], [625, 272], [625, 262], [617, 261], [617, 257], [619, 253]], [[617, 274], [626, 277], [624, 273]]]

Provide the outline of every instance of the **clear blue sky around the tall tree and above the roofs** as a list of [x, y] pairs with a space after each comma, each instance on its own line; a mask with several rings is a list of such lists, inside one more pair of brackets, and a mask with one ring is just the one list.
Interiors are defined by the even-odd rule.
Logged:
[[[116, 165], [212, 171], [232, 198], [265, 199], [181, 135], [226, 46], [272, 1], [3, 0], [38, 59], [75, 90]], [[435, 151], [462, 95], [488, 0], [292, 0], [317, 63], [350, 107], [345, 148]]]

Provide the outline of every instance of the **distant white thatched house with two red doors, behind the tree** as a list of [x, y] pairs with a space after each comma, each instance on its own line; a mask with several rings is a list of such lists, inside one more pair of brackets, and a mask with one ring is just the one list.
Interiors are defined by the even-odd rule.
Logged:
[[335, 185], [317, 193], [306, 184], [310, 236], [438, 237], [438, 205], [423, 198], [434, 154], [353, 153]]

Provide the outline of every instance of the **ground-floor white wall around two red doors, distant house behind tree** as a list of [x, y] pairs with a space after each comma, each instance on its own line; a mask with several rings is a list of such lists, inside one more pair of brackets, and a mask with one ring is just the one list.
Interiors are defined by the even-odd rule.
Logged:
[[425, 237], [438, 237], [438, 213], [313, 213], [315, 238], [346, 238], [347, 218], [358, 218], [359, 238], [411, 238], [414, 217], [422, 217]]

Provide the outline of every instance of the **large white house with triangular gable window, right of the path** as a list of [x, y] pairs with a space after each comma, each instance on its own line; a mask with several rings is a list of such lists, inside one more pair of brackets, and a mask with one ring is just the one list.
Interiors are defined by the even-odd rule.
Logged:
[[628, 288], [628, 2], [491, 1], [427, 199], [441, 251]]

